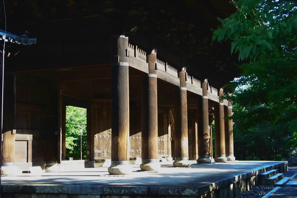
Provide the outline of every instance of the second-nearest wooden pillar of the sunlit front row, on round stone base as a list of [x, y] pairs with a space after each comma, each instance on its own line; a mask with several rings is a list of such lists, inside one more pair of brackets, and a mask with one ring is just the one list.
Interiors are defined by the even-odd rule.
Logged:
[[141, 84], [141, 162], [144, 171], [159, 170], [158, 159], [158, 105], [157, 105], [157, 53], [147, 55], [149, 74]]

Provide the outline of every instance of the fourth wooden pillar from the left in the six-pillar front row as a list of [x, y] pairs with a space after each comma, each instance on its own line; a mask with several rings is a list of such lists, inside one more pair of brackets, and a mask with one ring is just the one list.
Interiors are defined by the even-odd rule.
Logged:
[[209, 130], [208, 130], [208, 83], [205, 80], [201, 83], [202, 87], [202, 98], [198, 99], [197, 105], [197, 117], [199, 115], [200, 120], [198, 121], [198, 164], [210, 164], [211, 159], [209, 154]]

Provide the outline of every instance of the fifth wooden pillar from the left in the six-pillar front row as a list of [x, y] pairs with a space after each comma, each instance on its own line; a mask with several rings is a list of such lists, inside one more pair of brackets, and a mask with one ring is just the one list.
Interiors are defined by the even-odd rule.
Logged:
[[223, 89], [218, 91], [219, 103], [214, 106], [214, 133], [215, 133], [215, 147], [216, 153], [214, 161], [227, 161], [225, 153], [225, 125], [224, 125], [224, 103], [221, 97], [223, 96]]

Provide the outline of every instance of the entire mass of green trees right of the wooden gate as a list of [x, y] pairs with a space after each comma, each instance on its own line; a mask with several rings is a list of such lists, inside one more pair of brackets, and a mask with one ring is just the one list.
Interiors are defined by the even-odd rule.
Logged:
[[[296, 2], [238, 0], [220, 20], [213, 41], [231, 41], [231, 52], [249, 63], [231, 86], [235, 154], [239, 159], [282, 160], [296, 151]], [[225, 96], [228, 98], [228, 96]]]

